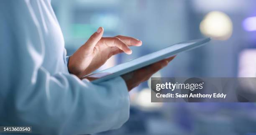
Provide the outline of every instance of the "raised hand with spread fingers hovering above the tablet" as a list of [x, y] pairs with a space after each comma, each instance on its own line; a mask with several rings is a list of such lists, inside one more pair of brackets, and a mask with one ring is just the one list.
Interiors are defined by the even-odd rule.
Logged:
[[79, 78], [90, 74], [102, 66], [111, 56], [125, 52], [131, 54], [129, 46], [141, 46], [138, 39], [127, 36], [103, 38], [103, 28], [92, 34], [72, 56], [69, 57], [69, 72]]

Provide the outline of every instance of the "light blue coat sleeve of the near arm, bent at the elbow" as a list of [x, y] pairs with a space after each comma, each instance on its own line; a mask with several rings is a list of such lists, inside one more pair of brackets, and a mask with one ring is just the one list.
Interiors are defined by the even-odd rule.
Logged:
[[0, 125], [74, 135], [116, 129], [128, 120], [121, 77], [92, 84], [69, 73], [50, 74], [42, 66], [47, 50], [29, 4], [3, 0], [0, 18]]

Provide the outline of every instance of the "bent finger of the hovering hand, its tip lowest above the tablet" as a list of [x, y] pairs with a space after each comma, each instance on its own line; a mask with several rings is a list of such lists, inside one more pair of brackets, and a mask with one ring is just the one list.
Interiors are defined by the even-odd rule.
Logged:
[[103, 43], [105, 43], [107, 46], [110, 47], [117, 47], [120, 50], [123, 50], [123, 52], [127, 53], [127, 54], [131, 54], [132, 51], [131, 49], [125, 44], [123, 43], [119, 38], [114, 37], [114, 38], [102, 38]]

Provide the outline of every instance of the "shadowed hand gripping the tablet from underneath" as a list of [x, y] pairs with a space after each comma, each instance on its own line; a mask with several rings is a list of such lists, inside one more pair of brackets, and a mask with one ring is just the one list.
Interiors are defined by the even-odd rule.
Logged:
[[154, 64], [151, 64], [149, 66], [143, 67], [141, 69], [138, 69], [136, 71], [133, 71], [121, 76], [125, 80], [128, 91], [130, 91], [134, 87], [137, 87], [142, 82], [148, 80], [157, 71], [167, 66], [168, 63], [172, 61], [174, 58], [175, 56], [172, 56], [168, 59], [164, 59], [162, 61], [156, 62]]

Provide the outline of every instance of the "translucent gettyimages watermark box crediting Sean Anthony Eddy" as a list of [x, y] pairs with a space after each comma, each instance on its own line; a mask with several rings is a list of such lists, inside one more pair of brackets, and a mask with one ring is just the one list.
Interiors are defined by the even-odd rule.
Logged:
[[256, 78], [151, 78], [151, 102], [256, 102]]

